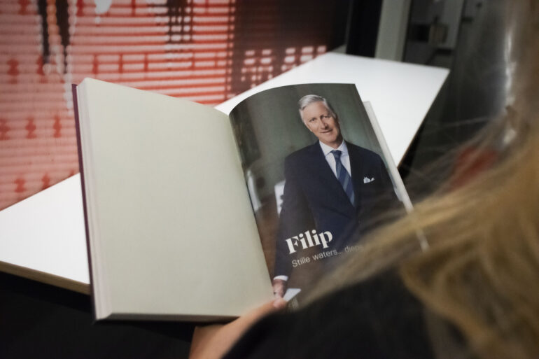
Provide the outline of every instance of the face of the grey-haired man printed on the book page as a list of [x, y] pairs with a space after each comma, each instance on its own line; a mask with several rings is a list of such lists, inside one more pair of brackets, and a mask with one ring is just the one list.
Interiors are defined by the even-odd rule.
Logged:
[[322, 143], [332, 148], [337, 148], [342, 143], [339, 121], [331, 115], [322, 101], [305, 106], [301, 111], [301, 119]]

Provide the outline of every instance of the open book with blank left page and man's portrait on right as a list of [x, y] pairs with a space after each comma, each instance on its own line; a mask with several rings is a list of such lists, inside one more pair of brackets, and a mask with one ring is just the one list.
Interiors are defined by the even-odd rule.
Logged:
[[230, 116], [74, 88], [98, 320], [214, 321], [307, 293], [409, 201], [354, 85], [278, 87]]

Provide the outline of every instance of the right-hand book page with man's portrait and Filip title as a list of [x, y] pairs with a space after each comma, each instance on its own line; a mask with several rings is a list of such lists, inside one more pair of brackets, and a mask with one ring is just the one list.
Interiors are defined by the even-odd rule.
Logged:
[[404, 210], [402, 181], [355, 85], [266, 90], [230, 120], [277, 294], [299, 292], [301, 301], [358, 255], [389, 213]]

